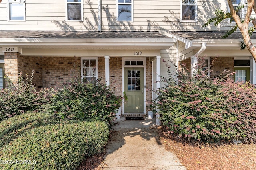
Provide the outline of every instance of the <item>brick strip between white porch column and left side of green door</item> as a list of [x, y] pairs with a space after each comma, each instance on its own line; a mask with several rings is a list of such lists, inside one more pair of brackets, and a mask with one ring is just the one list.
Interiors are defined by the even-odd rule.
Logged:
[[115, 87], [115, 95], [122, 96], [122, 57], [110, 57], [110, 84]]

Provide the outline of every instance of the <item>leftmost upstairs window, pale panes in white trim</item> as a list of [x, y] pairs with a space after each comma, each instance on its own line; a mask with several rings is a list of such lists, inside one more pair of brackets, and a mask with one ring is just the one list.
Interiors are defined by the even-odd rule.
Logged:
[[25, 0], [8, 0], [8, 21], [25, 21]]

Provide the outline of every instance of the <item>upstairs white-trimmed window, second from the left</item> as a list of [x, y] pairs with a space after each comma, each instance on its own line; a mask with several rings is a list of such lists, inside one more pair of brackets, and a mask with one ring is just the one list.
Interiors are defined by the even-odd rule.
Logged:
[[82, 0], [67, 0], [66, 4], [66, 18], [67, 20], [81, 21], [83, 18], [83, 4]]

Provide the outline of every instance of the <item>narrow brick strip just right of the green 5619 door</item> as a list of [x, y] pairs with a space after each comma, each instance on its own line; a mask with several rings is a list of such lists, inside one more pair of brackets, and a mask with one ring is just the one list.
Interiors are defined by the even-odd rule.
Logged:
[[152, 62], [146, 57], [146, 106], [152, 102]]

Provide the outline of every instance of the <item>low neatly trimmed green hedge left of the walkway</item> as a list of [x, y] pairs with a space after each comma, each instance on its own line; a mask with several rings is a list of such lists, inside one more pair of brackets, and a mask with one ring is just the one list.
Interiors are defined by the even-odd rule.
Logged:
[[[32, 119], [36, 117], [30, 118], [30, 121], [33, 122]], [[1, 160], [12, 160], [14, 164], [0, 164], [0, 169], [76, 169], [86, 156], [92, 156], [102, 150], [108, 135], [108, 126], [99, 121], [60, 121], [35, 126], [26, 129], [1, 148]]]

